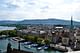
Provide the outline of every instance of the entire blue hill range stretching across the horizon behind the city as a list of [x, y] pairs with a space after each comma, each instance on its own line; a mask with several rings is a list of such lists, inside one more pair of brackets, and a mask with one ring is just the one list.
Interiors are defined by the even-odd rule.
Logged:
[[[23, 20], [23, 21], [0, 21], [0, 24], [61, 24], [70, 25], [70, 20], [60, 19], [36, 19], [36, 20]], [[73, 22], [74, 25], [80, 25], [80, 22]]]

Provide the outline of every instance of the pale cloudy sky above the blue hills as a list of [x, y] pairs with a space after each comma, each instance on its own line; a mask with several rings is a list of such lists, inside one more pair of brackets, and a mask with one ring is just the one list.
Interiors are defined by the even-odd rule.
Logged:
[[0, 20], [64, 19], [80, 21], [80, 0], [0, 0]]

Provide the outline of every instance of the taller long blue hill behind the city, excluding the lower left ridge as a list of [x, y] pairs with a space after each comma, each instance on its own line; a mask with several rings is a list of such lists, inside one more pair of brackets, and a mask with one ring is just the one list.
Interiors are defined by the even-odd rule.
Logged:
[[[62, 25], [70, 25], [70, 20], [60, 20], [60, 19], [43, 19], [43, 20], [23, 20], [18, 22], [18, 24], [62, 24]], [[80, 22], [73, 21], [74, 25], [80, 25]]]

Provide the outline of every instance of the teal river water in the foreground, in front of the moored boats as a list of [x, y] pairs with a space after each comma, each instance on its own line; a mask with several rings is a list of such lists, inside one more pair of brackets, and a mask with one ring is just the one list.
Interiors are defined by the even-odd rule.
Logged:
[[[6, 39], [0, 40], [0, 43], [2, 43], [2, 44], [0, 44], [0, 50], [2, 52], [6, 51], [7, 44], [9, 42], [11, 43], [12, 48], [18, 49], [18, 42], [17, 41], [8, 40], [8, 38], [6, 38]], [[22, 43], [20, 43], [20, 50], [29, 51], [29, 52], [33, 52], [33, 53], [63, 53], [63, 52], [59, 52], [59, 51], [55, 51], [55, 50], [45, 51], [45, 50], [36, 50], [36, 48], [35, 49], [30, 48], [29, 49], [29, 48], [25, 48]]]

